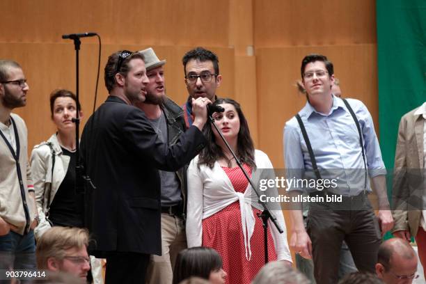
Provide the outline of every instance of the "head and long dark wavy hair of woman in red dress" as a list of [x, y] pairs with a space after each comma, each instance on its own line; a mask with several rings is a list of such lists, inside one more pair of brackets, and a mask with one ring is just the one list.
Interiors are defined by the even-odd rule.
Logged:
[[[234, 148], [233, 150], [239, 160], [255, 168], [253, 140], [251, 139], [246, 117], [239, 103], [229, 98], [221, 98], [216, 100], [213, 106], [221, 106], [225, 109], [221, 113], [213, 113], [214, 124], [222, 132], [228, 144]], [[227, 159], [228, 163], [230, 163], [232, 157], [226, 155], [228, 149], [213, 125], [205, 125], [203, 133], [209, 143], [200, 152], [198, 165], [206, 164], [213, 168], [214, 162], [221, 158]]]

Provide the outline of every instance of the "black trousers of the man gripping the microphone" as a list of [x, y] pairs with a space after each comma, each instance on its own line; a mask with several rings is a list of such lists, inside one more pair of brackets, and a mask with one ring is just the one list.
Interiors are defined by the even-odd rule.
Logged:
[[107, 256], [105, 284], [145, 283], [150, 255], [145, 253], [113, 253]]

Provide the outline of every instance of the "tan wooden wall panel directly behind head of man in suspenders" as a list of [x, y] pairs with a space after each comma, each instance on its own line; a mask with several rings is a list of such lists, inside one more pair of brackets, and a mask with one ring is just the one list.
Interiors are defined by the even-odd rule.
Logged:
[[258, 84], [258, 141], [276, 168], [283, 163], [283, 127], [305, 104], [295, 81], [300, 79], [303, 56], [328, 56], [333, 62], [342, 95], [362, 100], [377, 125], [376, 45], [282, 47], [256, 49]]

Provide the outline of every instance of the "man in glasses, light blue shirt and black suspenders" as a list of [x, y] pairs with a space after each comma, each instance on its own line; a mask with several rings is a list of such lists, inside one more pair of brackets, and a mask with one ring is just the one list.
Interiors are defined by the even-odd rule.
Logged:
[[[303, 258], [313, 258], [318, 284], [337, 283], [340, 248], [345, 240], [359, 271], [374, 273], [381, 235], [393, 226], [386, 194], [386, 169], [372, 117], [358, 100], [332, 94], [333, 63], [310, 54], [301, 63], [301, 79], [308, 102], [284, 127], [285, 166], [288, 178], [333, 180], [320, 191], [290, 189], [293, 196], [306, 191], [311, 202], [307, 229], [299, 204], [290, 211], [290, 246]], [[377, 217], [368, 200], [370, 180], [377, 191]], [[320, 198], [323, 198], [324, 202]], [[326, 202], [326, 200], [335, 200]], [[381, 232], [380, 232], [381, 229]]]

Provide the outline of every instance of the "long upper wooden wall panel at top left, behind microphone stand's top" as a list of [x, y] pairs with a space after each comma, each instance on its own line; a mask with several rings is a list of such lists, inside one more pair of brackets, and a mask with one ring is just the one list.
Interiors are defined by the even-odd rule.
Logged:
[[110, 44], [228, 47], [228, 2], [2, 0], [0, 41], [63, 42], [64, 33], [95, 31]]

